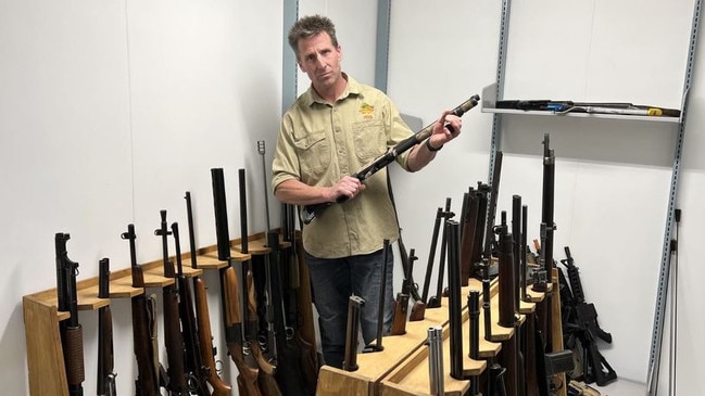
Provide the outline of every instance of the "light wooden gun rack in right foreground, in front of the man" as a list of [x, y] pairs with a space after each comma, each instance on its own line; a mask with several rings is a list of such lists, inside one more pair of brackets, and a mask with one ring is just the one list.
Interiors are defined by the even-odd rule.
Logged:
[[[553, 277], [555, 283], [549, 284], [549, 291], [557, 290], [557, 272]], [[462, 295], [470, 291], [482, 291], [482, 283], [470, 278], [468, 285], [462, 288]], [[498, 280], [492, 281], [490, 292], [492, 318], [498, 318], [499, 288]], [[520, 302], [519, 314], [523, 323], [525, 316], [536, 310], [536, 303], [543, 301], [544, 293], [528, 291], [531, 302]], [[555, 295], [555, 294], [554, 294]], [[553, 298], [555, 306], [557, 298]], [[559, 301], [557, 302], [559, 307]], [[554, 311], [555, 312], [555, 311]], [[487, 359], [494, 359], [502, 348], [502, 342], [513, 337], [514, 329], [492, 324], [492, 342], [484, 340], [484, 327], [480, 324], [480, 360], [473, 360], [469, 356], [469, 315], [467, 307], [463, 308], [463, 368], [464, 374], [480, 375], [488, 368]], [[480, 323], [483, 323], [483, 314], [480, 309]], [[556, 317], [554, 316], [554, 322]], [[561, 322], [558, 309], [558, 323]], [[440, 308], [427, 308], [424, 320], [406, 323], [406, 334], [389, 335], [383, 338], [383, 350], [358, 354], [358, 369], [353, 372], [324, 366], [318, 374], [316, 396], [425, 396], [429, 395], [429, 361], [428, 347], [426, 347], [427, 330], [429, 327], [443, 327], [443, 369], [444, 392], [448, 396], [465, 395], [470, 387], [469, 380], [456, 380], [450, 375], [450, 340], [448, 298], [442, 298]], [[563, 395], [565, 395], [565, 389]]]

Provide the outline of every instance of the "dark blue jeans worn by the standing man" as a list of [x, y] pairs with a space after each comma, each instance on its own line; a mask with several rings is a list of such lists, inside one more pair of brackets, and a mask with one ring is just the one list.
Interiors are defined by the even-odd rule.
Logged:
[[[365, 304], [360, 311], [360, 327], [365, 345], [377, 338], [379, 295], [382, 278], [382, 250], [342, 258], [317, 258], [306, 254], [314, 303], [318, 311], [320, 344], [326, 365], [342, 368], [345, 355], [348, 303], [352, 294]], [[382, 333], [391, 330], [394, 316], [393, 254], [390, 246], [385, 288], [385, 324]]]

